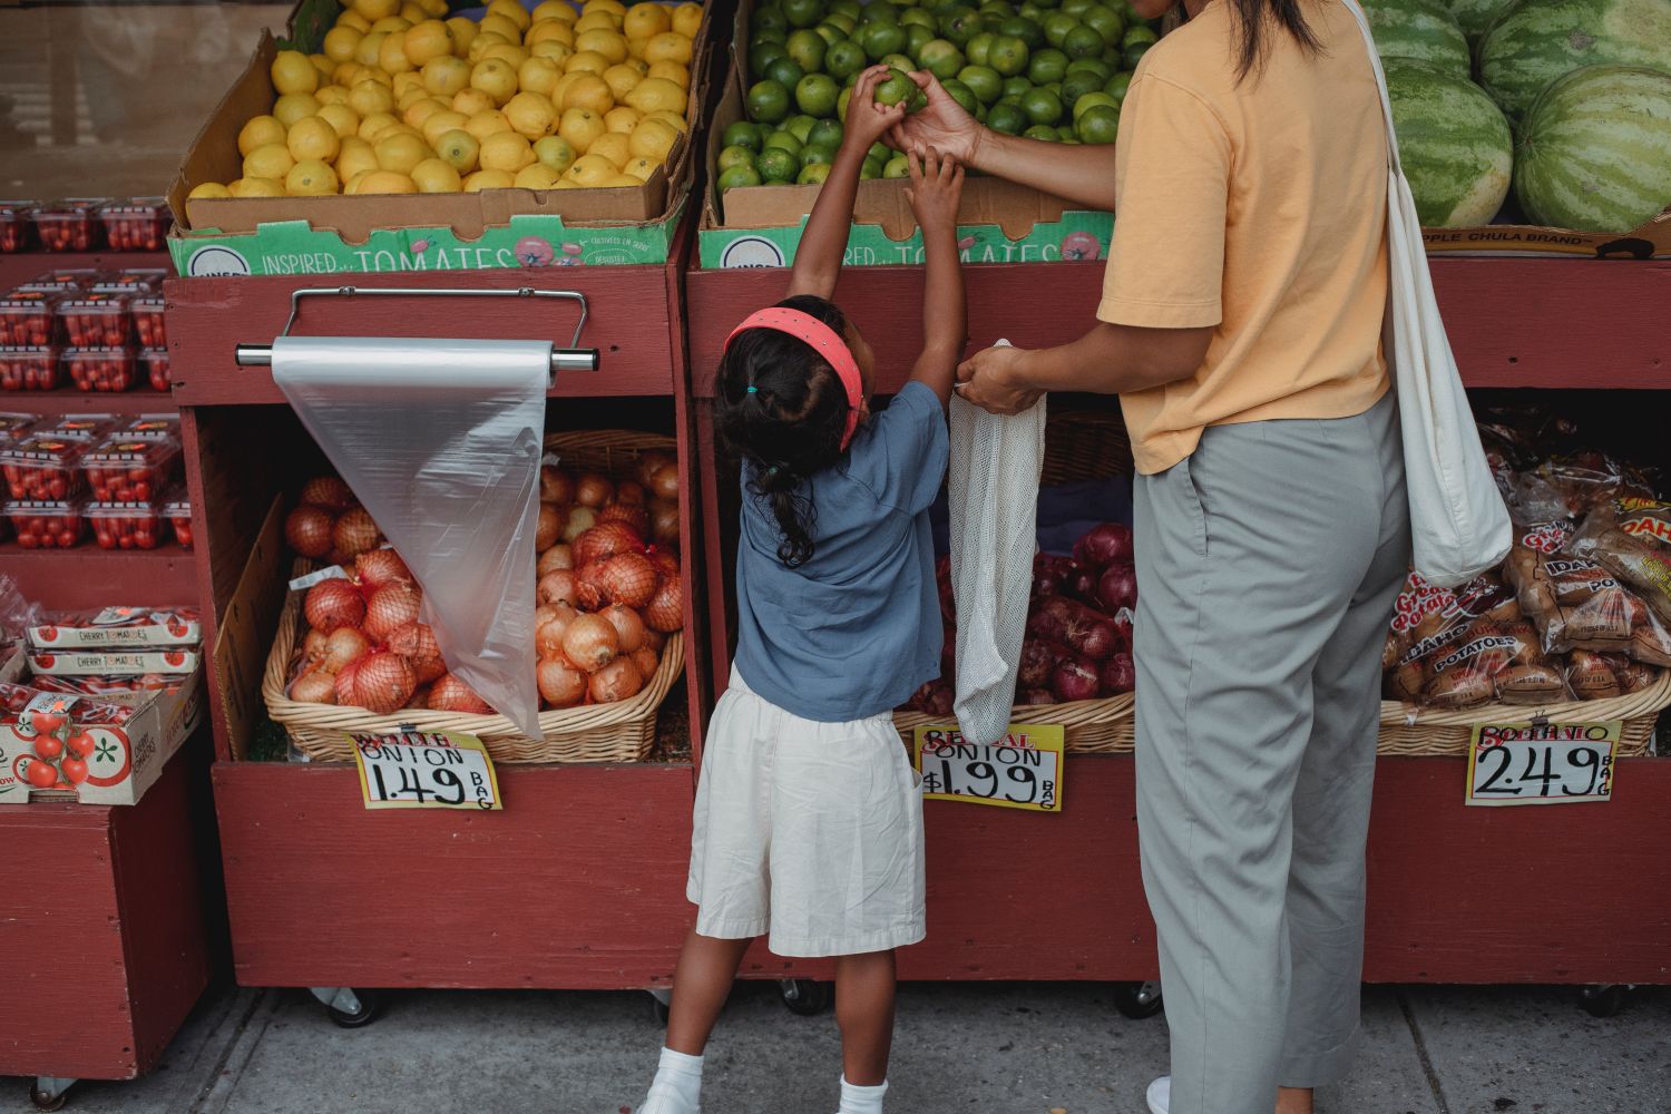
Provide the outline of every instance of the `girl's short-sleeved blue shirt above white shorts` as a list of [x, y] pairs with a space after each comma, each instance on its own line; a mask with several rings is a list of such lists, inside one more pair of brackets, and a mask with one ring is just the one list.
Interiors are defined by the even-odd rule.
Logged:
[[842, 461], [807, 481], [815, 551], [800, 568], [777, 558], [777, 516], [744, 466], [735, 666], [755, 693], [839, 723], [891, 711], [939, 676], [929, 506], [947, 454], [939, 397], [907, 382]]

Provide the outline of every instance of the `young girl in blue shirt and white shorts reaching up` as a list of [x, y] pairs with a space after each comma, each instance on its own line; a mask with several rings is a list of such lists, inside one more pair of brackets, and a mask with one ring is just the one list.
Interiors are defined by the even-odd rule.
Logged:
[[922, 797], [892, 710], [939, 675], [929, 504], [946, 474], [946, 399], [964, 347], [956, 215], [962, 169], [911, 155], [922, 227], [924, 347], [871, 414], [874, 356], [829, 301], [859, 169], [899, 120], [852, 92], [789, 297], [739, 326], [720, 364], [719, 428], [742, 458], [737, 658], [697, 788], [690, 900], [662, 1066], [640, 1114], [695, 1114], [702, 1051], [747, 947], [836, 959], [841, 1114], [881, 1114], [894, 1032], [894, 949], [924, 935]]

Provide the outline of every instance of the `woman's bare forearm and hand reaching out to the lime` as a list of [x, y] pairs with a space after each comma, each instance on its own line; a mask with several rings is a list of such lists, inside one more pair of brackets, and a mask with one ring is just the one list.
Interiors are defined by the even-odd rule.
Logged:
[[896, 150], [934, 147], [981, 174], [1026, 182], [1088, 209], [1113, 210], [1113, 144], [1046, 144], [1004, 135], [969, 115], [932, 73], [912, 73], [911, 78], [922, 87], [929, 104], [892, 129], [887, 142]]

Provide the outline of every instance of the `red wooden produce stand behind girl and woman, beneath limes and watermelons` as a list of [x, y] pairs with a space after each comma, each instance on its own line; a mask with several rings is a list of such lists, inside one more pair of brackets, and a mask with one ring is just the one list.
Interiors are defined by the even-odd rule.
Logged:
[[[976, 347], [1078, 337], [1103, 266], [964, 269]], [[1671, 264], [1435, 259], [1434, 281], [1472, 387], [1668, 389]], [[842, 272], [837, 304], [871, 336], [879, 394], [921, 346], [922, 272]], [[715, 471], [717, 354], [737, 321], [784, 296], [784, 271], [692, 271], [692, 396], [702, 466], [709, 655], [729, 675], [737, 478]], [[1576, 326], [1582, 322], [1582, 326]], [[1658, 396], [1654, 397], [1656, 404]], [[1110, 401], [1113, 404], [1113, 401]], [[929, 939], [904, 979], [1145, 980], [1155, 929], [1138, 872], [1135, 763], [1073, 755], [1071, 803], [1041, 817], [931, 802]], [[1602, 807], [1467, 808], [1462, 758], [1385, 758], [1370, 832], [1365, 977], [1374, 982], [1671, 982], [1671, 762], [1619, 763]], [[757, 949], [755, 975], [827, 977], [827, 965]]]

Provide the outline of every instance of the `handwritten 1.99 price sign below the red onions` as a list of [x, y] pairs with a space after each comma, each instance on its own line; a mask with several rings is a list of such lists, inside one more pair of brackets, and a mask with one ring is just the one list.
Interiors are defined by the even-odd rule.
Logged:
[[924, 800], [1061, 812], [1063, 743], [1058, 725], [1011, 725], [991, 747], [964, 742], [949, 725], [919, 727], [911, 750]]

